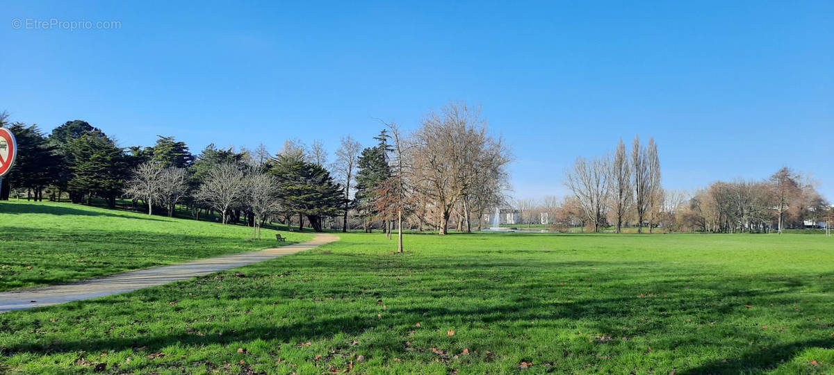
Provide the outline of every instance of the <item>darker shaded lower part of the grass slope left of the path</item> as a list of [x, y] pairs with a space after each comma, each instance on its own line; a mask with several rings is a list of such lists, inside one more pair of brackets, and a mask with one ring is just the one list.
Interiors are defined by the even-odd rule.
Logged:
[[[298, 243], [141, 230], [3, 227], [0, 290], [68, 283]], [[31, 267], [31, 268], [30, 268]]]

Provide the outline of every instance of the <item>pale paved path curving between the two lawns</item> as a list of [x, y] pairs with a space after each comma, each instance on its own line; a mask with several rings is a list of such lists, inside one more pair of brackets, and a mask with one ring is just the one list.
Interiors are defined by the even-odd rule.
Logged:
[[209, 273], [216, 273], [229, 268], [238, 268], [247, 264], [278, 258], [283, 255], [298, 253], [338, 240], [339, 237], [332, 234], [319, 234], [306, 243], [294, 243], [280, 248], [268, 248], [257, 252], [236, 253], [216, 258], [198, 259], [186, 263], [140, 269], [127, 273], [116, 273], [102, 278], [91, 278], [68, 284], [0, 292], [0, 313], [10, 310], [38, 308], [40, 306], [77, 301], [79, 299], [109, 296], [111, 294], [125, 293], [136, 289], [173, 283], [179, 280], [208, 275]]

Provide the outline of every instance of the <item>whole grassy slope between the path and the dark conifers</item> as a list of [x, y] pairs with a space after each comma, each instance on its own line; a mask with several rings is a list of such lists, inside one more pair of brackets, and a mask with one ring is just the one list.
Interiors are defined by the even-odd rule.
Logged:
[[[274, 231], [70, 203], [0, 203], [0, 290], [276, 246]], [[312, 238], [283, 233], [289, 243]], [[30, 268], [31, 267], [31, 268]]]

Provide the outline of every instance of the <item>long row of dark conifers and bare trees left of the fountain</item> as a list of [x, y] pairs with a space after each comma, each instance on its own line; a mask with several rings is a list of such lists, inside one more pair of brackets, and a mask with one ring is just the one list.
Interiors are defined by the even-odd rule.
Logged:
[[370, 147], [343, 137], [331, 163], [319, 141], [308, 147], [289, 139], [275, 154], [264, 144], [254, 150], [210, 144], [193, 155], [173, 137], [122, 148], [82, 120], [47, 134], [37, 125], [9, 123], [4, 112], [0, 126], [15, 134], [19, 153], [0, 199], [91, 204], [101, 198], [116, 208], [123, 198], [148, 214], [216, 214], [221, 223], [244, 223], [255, 233], [278, 222], [389, 234], [394, 226], [445, 234], [450, 218], [470, 231], [473, 216], [505, 202], [510, 151], [489, 133], [480, 107], [450, 102], [409, 133], [393, 122], [381, 125]]

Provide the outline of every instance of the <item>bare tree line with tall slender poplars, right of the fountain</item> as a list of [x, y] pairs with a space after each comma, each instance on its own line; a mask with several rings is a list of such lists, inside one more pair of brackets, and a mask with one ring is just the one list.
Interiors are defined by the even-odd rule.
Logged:
[[[635, 137], [631, 151], [620, 139], [613, 153], [577, 158], [565, 171], [564, 199], [516, 203], [526, 223], [546, 221], [557, 228], [590, 227], [595, 232], [625, 226], [666, 232], [782, 233], [785, 228], [823, 224], [830, 230], [834, 208], [813, 183], [790, 168], [769, 178], [716, 181], [693, 192], [663, 188], [654, 139]], [[546, 218], [546, 219], [545, 219]]]

